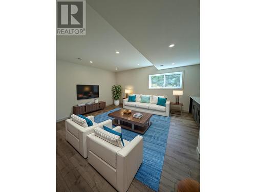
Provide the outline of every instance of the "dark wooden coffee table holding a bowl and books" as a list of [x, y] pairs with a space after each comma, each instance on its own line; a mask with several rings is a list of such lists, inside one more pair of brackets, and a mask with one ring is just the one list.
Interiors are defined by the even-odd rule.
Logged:
[[136, 133], [144, 134], [148, 127], [152, 124], [150, 118], [152, 114], [142, 113], [144, 116], [141, 119], [133, 117], [135, 113], [142, 113], [137, 111], [132, 111], [131, 114], [124, 114], [123, 110], [118, 110], [112, 113], [109, 113], [109, 117], [115, 118], [113, 120], [114, 125], [119, 125], [123, 129], [130, 130]]

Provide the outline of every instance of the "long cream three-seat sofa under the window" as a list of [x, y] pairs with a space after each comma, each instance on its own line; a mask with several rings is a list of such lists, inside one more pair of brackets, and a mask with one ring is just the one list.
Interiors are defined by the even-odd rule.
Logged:
[[[150, 103], [142, 103], [140, 102], [141, 95], [136, 95], [135, 102], [128, 102], [128, 98], [123, 99], [123, 109], [129, 109], [139, 112], [151, 113], [155, 115], [162, 115], [169, 117], [170, 114], [170, 101], [166, 101], [165, 106], [157, 105], [157, 98], [164, 96], [150, 95]], [[154, 99], [153, 99], [154, 98]]]

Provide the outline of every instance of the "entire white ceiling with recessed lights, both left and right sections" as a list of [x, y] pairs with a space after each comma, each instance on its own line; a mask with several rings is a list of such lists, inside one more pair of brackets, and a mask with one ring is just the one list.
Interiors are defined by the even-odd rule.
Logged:
[[57, 36], [57, 59], [110, 71], [200, 63], [199, 0], [87, 0], [86, 15], [86, 36]]

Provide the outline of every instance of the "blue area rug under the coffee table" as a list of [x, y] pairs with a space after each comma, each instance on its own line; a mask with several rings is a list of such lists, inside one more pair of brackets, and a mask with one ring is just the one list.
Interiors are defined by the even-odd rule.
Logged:
[[[120, 110], [120, 108], [95, 116], [95, 122], [99, 123], [107, 119], [113, 119], [108, 117], [108, 114], [117, 110]], [[153, 190], [158, 191], [169, 133], [170, 117], [153, 115], [151, 122], [152, 125], [142, 135], [143, 161], [135, 178]], [[140, 135], [125, 129], [122, 129], [122, 134], [123, 139], [128, 141]]]

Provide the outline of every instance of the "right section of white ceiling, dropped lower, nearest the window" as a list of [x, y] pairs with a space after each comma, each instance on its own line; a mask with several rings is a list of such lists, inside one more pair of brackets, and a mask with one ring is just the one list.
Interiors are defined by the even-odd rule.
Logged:
[[[87, 0], [87, 3], [157, 69], [200, 63], [199, 0]], [[176, 46], [169, 48], [170, 44]]]

